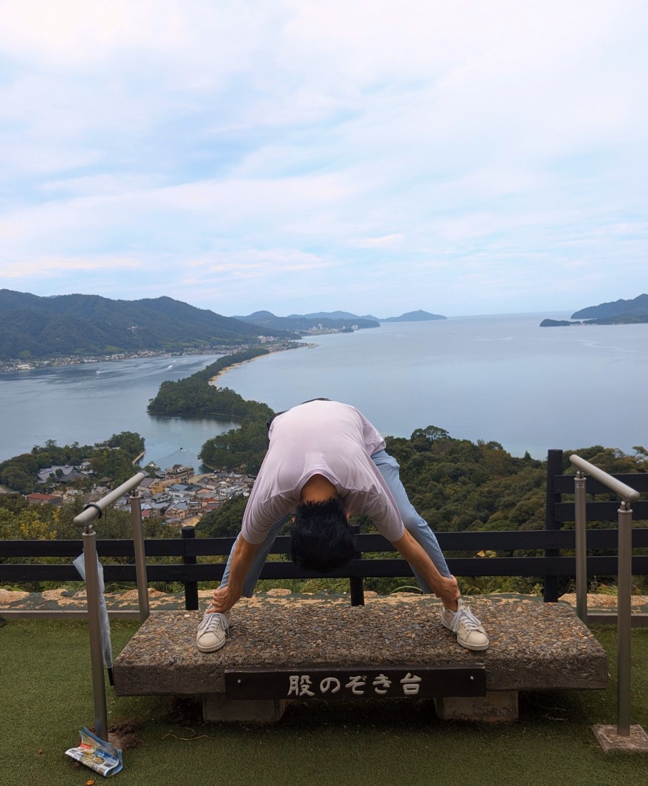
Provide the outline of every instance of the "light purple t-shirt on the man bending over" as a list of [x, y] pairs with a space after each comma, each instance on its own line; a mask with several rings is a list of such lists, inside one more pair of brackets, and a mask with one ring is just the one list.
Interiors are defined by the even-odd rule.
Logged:
[[384, 448], [385, 440], [355, 406], [311, 401], [278, 415], [245, 508], [243, 537], [263, 542], [274, 521], [296, 511], [304, 483], [322, 475], [349, 514], [365, 513], [390, 542], [402, 538], [396, 502], [370, 458]]

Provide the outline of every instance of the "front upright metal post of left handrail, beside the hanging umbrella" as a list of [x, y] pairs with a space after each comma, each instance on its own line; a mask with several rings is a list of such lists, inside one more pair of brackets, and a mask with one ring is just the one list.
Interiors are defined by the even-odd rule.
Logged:
[[101, 740], [108, 742], [108, 712], [105, 703], [104, 653], [101, 643], [99, 616], [99, 573], [97, 568], [97, 533], [92, 524], [83, 532], [83, 559], [86, 564], [88, 629], [90, 631], [90, 663], [92, 665], [92, 696], [94, 728]]

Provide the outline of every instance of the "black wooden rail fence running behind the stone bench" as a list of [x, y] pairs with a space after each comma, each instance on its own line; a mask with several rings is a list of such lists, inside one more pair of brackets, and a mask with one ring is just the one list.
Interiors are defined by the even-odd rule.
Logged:
[[[648, 474], [636, 473], [615, 476], [629, 486], [648, 493]], [[573, 501], [565, 501], [566, 494], [573, 494], [574, 476], [562, 475], [562, 452], [550, 450], [547, 461], [547, 516], [546, 526], [540, 531], [482, 531], [439, 532], [437, 538], [444, 553], [471, 556], [448, 556], [447, 563], [458, 576], [532, 576], [543, 582], [544, 600], [558, 600], [559, 579], [576, 574], [573, 555], [575, 532], [564, 528], [574, 520]], [[609, 494], [595, 480], [587, 479], [588, 521], [617, 520], [617, 501], [597, 501], [597, 494]], [[591, 500], [591, 501], [590, 501]], [[632, 506], [635, 521], [648, 520], [648, 501], [640, 500]], [[587, 533], [587, 575], [613, 576], [617, 572], [618, 533], [616, 529], [591, 529]], [[175, 557], [177, 564], [147, 566], [149, 582], [181, 582], [185, 586], [186, 608], [197, 608], [198, 582], [219, 581], [223, 576], [223, 563], [200, 563], [205, 556], [226, 556], [234, 538], [196, 538], [193, 527], [184, 527], [182, 538], [161, 538], [145, 541], [147, 559]], [[277, 538], [271, 553], [288, 552], [289, 538]], [[632, 533], [633, 549], [648, 549], [648, 528], [636, 527]], [[105, 564], [106, 582], [134, 582], [134, 549], [130, 540], [101, 540], [97, 542], [99, 556], [125, 557], [132, 564]], [[79, 575], [72, 566], [72, 559], [82, 550], [81, 539], [60, 541], [0, 541], [0, 586], [17, 582], [73, 582]], [[475, 556], [480, 552], [495, 552], [497, 556]], [[521, 556], [520, 553], [531, 553]], [[600, 553], [604, 552], [604, 553]], [[385, 554], [380, 558], [363, 559], [363, 553]], [[359, 534], [358, 554], [352, 563], [327, 578], [348, 578], [351, 584], [352, 603], [362, 602], [363, 578], [411, 576], [405, 560], [392, 556], [392, 545], [379, 534]], [[4, 560], [24, 557], [49, 557], [66, 560], [57, 564], [17, 564]], [[648, 575], [648, 556], [635, 555], [632, 559], [633, 575]], [[267, 562], [261, 578], [322, 578], [305, 571], [290, 561]]]

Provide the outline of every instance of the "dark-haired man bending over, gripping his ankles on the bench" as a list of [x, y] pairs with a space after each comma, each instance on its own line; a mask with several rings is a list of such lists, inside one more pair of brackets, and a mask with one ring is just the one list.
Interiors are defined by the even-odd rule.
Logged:
[[275, 416], [269, 446], [243, 515], [223, 580], [198, 626], [197, 647], [226, 642], [230, 610], [252, 597], [282, 526], [294, 516], [290, 556], [300, 567], [330, 573], [355, 556], [348, 516], [364, 513], [410, 564], [424, 593], [444, 604], [441, 622], [471, 650], [488, 648], [480, 621], [460, 597], [436, 536], [414, 510], [385, 440], [359, 410], [317, 399]]

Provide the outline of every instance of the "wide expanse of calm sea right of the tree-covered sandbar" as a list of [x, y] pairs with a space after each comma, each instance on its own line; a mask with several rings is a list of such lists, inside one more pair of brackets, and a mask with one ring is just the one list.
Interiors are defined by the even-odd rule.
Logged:
[[220, 384], [275, 410], [326, 396], [358, 406], [383, 434], [433, 424], [514, 455], [648, 444], [648, 325], [540, 328], [546, 316], [318, 336], [314, 349], [238, 366]]

